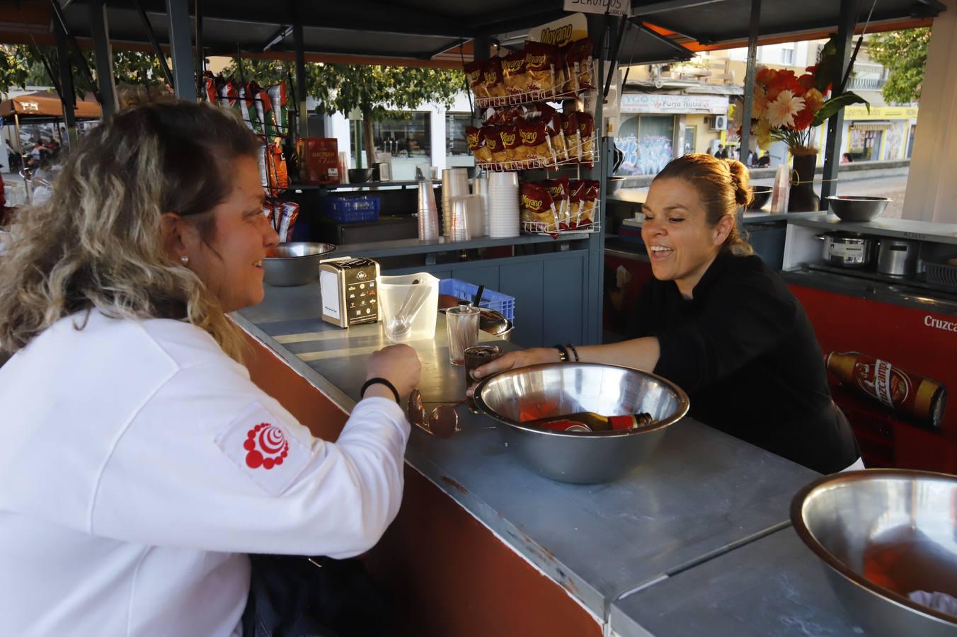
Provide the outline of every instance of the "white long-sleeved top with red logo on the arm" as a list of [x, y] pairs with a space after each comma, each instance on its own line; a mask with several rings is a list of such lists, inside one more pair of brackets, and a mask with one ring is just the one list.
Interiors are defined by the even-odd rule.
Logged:
[[0, 368], [0, 635], [237, 635], [245, 554], [350, 557], [395, 517], [395, 403], [325, 442], [189, 323], [81, 323]]

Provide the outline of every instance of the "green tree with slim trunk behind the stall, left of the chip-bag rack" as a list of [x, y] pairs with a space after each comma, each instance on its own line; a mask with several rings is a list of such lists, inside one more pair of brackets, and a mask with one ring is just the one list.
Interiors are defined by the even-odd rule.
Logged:
[[[293, 77], [288, 61], [243, 59], [224, 69], [224, 76], [245, 77], [267, 86]], [[366, 66], [308, 63], [305, 69], [306, 94], [319, 104], [316, 112], [329, 115], [362, 113], [363, 140], [367, 165], [375, 158], [372, 126], [397, 110], [413, 110], [427, 102], [452, 106], [456, 94], [465, 88], [465, 76], [454, 69], [423, 69], [408, 66]]]

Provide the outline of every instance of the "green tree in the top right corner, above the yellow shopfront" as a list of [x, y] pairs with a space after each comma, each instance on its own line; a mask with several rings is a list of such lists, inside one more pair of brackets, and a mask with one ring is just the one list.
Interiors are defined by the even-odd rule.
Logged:
[[868, 38], [871, 59], [889, 71], [882, 91], [888, 102], [905, 104], [921, 99], [929, 42], [929, 28], [876, 33]]

